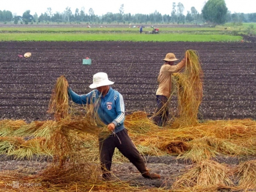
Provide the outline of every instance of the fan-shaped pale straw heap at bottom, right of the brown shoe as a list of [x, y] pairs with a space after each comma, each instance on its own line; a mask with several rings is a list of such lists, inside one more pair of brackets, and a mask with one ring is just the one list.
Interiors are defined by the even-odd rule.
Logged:
[[227, 186], [234, 184], [229, 179], [231, 172], [224, 164], [219, 164], [212, 160], [204, 160], [193, 165], [185, 174], [178, 177], [173, 183], [173, 189], [192, 188], [195, 186]]

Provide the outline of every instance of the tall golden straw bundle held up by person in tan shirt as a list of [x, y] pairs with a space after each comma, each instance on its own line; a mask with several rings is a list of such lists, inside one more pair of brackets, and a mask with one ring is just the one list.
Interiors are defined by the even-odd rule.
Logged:
[[172, 127], [195, 125], [198, 123], [198, 108], [202, 101], [203, 88], [201, 62], [197, 51], [187, 50], [186, 67], [182, 73], [172, 75], [174, 91], [178, 97], [178, 117]]

